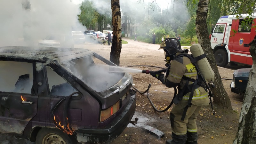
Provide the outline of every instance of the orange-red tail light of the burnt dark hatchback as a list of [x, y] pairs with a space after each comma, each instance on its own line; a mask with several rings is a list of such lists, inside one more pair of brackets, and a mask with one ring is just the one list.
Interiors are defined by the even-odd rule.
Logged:
[[117, 101], [113, 106], [111, 106], [108, 109], [102, 110], [100, 111], [100, 122], [105, 121], [106, 119], [108, 119], [110, 116], [112, 116], [113, 114], [115, 114], [120, 107], [120, 101]]

